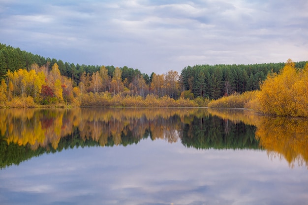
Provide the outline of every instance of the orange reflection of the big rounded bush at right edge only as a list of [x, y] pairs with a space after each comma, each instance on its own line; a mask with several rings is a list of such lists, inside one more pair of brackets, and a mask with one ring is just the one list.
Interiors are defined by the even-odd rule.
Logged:
[[262, 117], [256, 138], [269, 156], [285, 158], [294, 164], [308, 167], [308, 121], [304, 118]]

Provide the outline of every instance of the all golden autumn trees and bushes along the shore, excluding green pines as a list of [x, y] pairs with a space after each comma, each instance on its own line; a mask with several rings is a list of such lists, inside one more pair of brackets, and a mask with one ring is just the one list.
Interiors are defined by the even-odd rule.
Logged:
[[[308, 64], [303, 70], [297, 70], [295, 63], [288, 60], [280, 74], [269, 75], [259, 91], [247, 91], [224, 96], [210, 102], [207, 98], [193, 99], [190, 90], [183, 91], [179, 97], [179, 75], [176, 71], [166, 74], [153, 74], [151, 88], [143, 76], [138, 76], [127, 87], [122, 82], [122, 71], [116, 68], [113, 78], [102, 66], [92, 76], [85, 72], [81, 75], [78, 88], [73, 88], [72, 80], [61, 76], [55, 63], [48, 66], [31, 66], [31, 70], [8, 71], [6, 82], [0, 86], [0, 106], [27, 107], [39, 104], [72, 106], [113, 106], [113, 107], [224, 107], [249, 108], [265, 114], [279, 116], [308, 117]], [[48, 86], [45, 94], [42, 86]], [[8, 86], [8, 88], [6, 88]], [[45, 87], [44, 87], [45, 88]], [[31, 96], [28, 98], [28, 96]], [[23, 102], [18, 102], [18, 100]], [[177, 100], [175, 100], [177, 99]]]

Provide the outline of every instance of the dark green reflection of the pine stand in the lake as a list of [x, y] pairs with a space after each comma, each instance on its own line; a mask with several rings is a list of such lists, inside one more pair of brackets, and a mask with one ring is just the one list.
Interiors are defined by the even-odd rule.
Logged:
[[259, 148], [254, 138], [255, 127], [243, 122], [233, 123], [212, 115], [194, 117], [185, 124], [182, 143], [195, 148]]

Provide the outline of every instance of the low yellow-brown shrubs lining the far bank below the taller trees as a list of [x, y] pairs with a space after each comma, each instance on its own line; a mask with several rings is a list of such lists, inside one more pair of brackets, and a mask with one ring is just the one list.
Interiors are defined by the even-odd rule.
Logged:
[[79, 96], [68, 104], [65, 102], [55, 102], [47, 105], [41, 105], [31, 97], [14, 97], [10, 101], [0, 103], [2, 108], [34, 108], [34, 107], [207, 107], [209, 99], [197, 97], [195, 99], [186, 99], [180, 97], [175, 100], [168, 96], [157, 97], [153, 94], [146, 98], [141, 96], [125, 97], [121, 94], [111, 96], [110, 93], [86, 93]]

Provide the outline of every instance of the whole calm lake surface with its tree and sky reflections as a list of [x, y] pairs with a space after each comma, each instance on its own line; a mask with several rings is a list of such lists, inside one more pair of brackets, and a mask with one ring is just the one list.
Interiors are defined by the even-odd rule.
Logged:
[[0, 110], [1, 205], [305, 205], [308, 121], [246, 110]]

